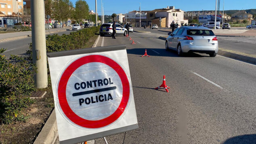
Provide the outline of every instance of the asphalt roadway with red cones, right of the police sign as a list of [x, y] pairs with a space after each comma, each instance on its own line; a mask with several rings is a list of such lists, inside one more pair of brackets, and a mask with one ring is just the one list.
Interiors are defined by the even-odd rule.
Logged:
[[[255, 65], [219, 55], [179, 57], [154, 33], [130, 36], [136, 44], [106, 36], [102, 45], [127, 46], [139, 129], [107, 136], [109, 144], [256, 144]], [[150, 57], [141, 57], [145, 49]], [[163, 75], [169, 93], [154, 90]]]

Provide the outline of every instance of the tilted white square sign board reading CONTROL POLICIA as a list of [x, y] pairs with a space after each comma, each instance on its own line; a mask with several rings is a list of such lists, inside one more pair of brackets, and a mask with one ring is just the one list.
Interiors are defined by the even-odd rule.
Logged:
[[50, 57], [48, 62], [61, 144], [138, 128], [126, 50]]

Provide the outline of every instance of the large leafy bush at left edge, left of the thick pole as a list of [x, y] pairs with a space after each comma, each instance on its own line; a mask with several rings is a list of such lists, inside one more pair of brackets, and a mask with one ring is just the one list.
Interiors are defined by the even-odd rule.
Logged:
[[[0, 54], [5, 50], [0, 49]], [[25, 57], [0, 55], [0, 124], [23, 119], [21, 110], [33, 101], [29, 98], [36, 90], [33, 76], [36, 67]]]

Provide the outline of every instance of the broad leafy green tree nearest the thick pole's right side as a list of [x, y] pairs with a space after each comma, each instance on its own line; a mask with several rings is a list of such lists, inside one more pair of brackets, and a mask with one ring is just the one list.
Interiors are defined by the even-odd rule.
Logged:
[[72, 17], [72, 10], [73, 4], [69, 0], [52, 1], [52, 16], [59, 21]]

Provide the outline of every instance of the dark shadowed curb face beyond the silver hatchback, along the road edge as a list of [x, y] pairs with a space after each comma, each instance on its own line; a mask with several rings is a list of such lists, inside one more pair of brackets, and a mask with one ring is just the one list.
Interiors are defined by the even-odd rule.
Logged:
[[[159, 39], [160, 40], [166, 40], [166, 38], [162, 37], [162, 36], [160, 36]], [[233, 58], [233, 59], [243, 61], [243, 62], [247, 62], [247, 63], [256, 64], [256, 58], [250, 57], [250, 56], [235, 54], [233, 52], [226, 52], [224, 50], [218, 50], [218, 55], [225, 56], [225, 57], [228, 57], [228, 58]]]

